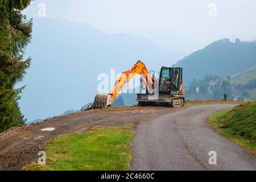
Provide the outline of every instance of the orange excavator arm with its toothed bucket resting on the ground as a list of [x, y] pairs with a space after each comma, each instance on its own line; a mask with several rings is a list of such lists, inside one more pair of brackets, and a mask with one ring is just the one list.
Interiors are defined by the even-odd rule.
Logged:
[[154, 86], [154, 80], [151, 78], [150, 73], [147, 71], [146, 65], [141, 61], [138, 61], [132, 68], [122, 72], [122, 75], [115, 82], [112, 92], [110, 92], [108, 95], [96, 95], [93, 108], [96, 109], [111, 105], [123, 89], [123, 86], [125, 86], [126, 82], [129, 82], [133, 79], [134, 76], [138, 74], [141, 75], [141, 80], [146, 86], [148, 92], [151, 92]]

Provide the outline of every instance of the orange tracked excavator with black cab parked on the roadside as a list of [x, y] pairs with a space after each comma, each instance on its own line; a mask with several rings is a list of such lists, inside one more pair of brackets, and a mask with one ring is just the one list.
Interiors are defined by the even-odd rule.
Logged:
[[141, 75], [141, 82], [146, 86], [146, 94], [137, 94], [139, 105], [168, 105], [172, 107], [184, 105], [183, 68], [162, 67], [159, 78], [155, 79], [155, 72], [148, 72], [146, 65], [142, 61], [138, 61], [132, 68], [122, 72], [115, 82], [112, 92], [107, 95], [96, 95], [92, 105], [93, 109], [111, 106], [126, 82], [138, 74]]

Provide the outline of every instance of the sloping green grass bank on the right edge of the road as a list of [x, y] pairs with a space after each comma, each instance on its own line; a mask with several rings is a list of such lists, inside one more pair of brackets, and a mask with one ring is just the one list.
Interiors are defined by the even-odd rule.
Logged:
[[256, 101], [212, 114], [208, 122], [218, 133], [256, 154]]

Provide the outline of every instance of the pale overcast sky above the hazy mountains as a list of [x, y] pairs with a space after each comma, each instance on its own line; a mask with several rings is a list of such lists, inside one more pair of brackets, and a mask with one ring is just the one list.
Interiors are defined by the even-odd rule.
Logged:
[[221, 38], [256, 39], [255, 0], [36, 0], [24, 13], [39, 18], [39, 3], [46, 18], [144, 36], [169, 51], [192, 52]]

